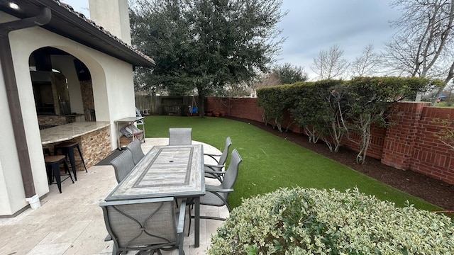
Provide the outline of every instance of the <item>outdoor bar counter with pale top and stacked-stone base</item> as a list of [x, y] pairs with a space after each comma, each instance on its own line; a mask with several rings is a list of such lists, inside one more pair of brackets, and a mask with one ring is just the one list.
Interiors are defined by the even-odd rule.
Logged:
[[[41, 144], [53, 153], [54, 145], [72, 140], [79, 143], [87, 168], [111, 153], [109, 122], [81, 121], [40, 130]], [[78, 154], [76, 153], [76, 160]], [[82, 170], [77, 167], [77, 170]]]

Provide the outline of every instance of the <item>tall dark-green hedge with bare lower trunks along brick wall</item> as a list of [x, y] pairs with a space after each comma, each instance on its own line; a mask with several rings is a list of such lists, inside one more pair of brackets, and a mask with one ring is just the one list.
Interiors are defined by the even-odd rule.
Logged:
[[359, 135], [356, 162], [364, 164], [371, 125], [392, 125], [388, 114], [394, 103], [438, 84], [414, 77], [359, 77], [267, 87], [257, 94], [264, 120], [274, 120], [281, 132], [284, 113], [289, 111], [310, 142], [322, 139], [333, 152], [338, 151], [344, 136], [355, 141], [351, 135]]

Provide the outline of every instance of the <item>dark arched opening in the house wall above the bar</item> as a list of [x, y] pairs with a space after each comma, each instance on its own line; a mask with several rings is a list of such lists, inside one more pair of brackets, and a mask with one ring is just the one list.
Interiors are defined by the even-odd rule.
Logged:
[[28, 60], [40, 129], [95, 121], [92, 76], [77, 57], [41, 47]]

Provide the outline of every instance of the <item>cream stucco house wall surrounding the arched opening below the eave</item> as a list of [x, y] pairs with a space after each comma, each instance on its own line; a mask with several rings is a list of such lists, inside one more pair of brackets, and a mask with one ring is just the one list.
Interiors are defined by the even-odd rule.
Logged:
[[[0, 11], [0, 22], [13, 21], [16, 18]], [[48, 182], [40, 141], [38, 118], [28, 59], [34, 50], [40, 47], [55, 47], [65, 50], [84, 62], [92, 76], [94, 104], [97, 121], [111, 123], [111, 150], [116, 148], [118, 130], [114, 120], [127, 116], [135, 116], [133, 67], [131, 64], [117, 60], [102, 52], [92, 50], [78, 42], [74, 42], [40, 27], [15, 30], [9, 33], [11, 52], [13, 55], [14, 72], [18, 84], [21, 112], [26, 131], [28, 152], [32, 162], [33, 181], [38, 196], [48, 193]], [[60, 60], [61, 72], [65, 72], [65, 64]], [[1, 72], [0, 72], [0, 75]], [[67, 73], [67, 78], [77, 78], [74, 73]], [[25, 200], [24, 187], [16, 145], [13, 137], [8, 100], [3, 77], [0, 77], [0, 114], [2, 121], [0, 146], [0, 215], [11, 215], [28, 205]], [[75, 79], [77, 81], [77, 79]], [[70, 97], [80, 97], [80, 91], [70, 91]], [[82, 106], [75, 104], [74, 109]]]

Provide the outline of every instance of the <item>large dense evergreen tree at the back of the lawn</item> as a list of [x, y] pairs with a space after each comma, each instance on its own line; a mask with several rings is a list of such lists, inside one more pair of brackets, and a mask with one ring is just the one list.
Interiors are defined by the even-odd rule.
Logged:
[[[153, 57], [153, 72], [138, 69], [142, 86], [204, 96], [251, 81], [279, 52], [282, 0], [133, 0], [133, 45]], [[144, 73], [145, 72], [145, 73]]]

